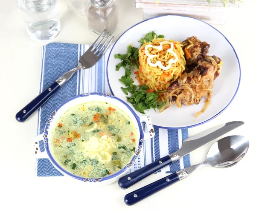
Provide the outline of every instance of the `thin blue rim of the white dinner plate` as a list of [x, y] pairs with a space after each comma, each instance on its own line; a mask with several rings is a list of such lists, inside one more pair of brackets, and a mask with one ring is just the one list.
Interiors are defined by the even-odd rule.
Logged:
[[[199, 19], [196, 19], [196, 18], [194, 18], [194, 17], [187, 17], [187, 16], [184, 16], [184, 15], [172, 15], [172, 14], [169, 14], [169, 15], [162, 15], [162, 16], [158, 16], [158, 17], [152, 17], [152, 18], [149, 18], [149, 19], [147, 19], [147, 20], [143, 20], [143, 21], [141, 21], [140, 23], [143, 23], [143, 22], [148, 21], [148, 20], [151, 20], [151, 19], [159, 18], [159, 17], [165, 17], [165, 16], [180, 16], [180, 17], [186, 17], [186, 18], [195, 19], [195, 20], [198, 20], [198, 21], [201, 21], [201, 22], [205, 23], [204, 21], [199, 20]], [[137, 24], [134, 25], [134, 26], [137, 26], [137, 25], [139, 25], [140, 23], [137, 23]], [[214, 27], [211, 26], [210, 24], [208, 24], [208, 23], [205, 23], [205, 24], [207, 24], [208, 26], [210, 26], [210, 27], [212, 27], [213, 29], [215, 29], [216, 31], [218, 31], [218, 29], [214, 28]], [[131, 28], [133, 28], [134, 26], [131, 26]], [[124, 33], [122, 33], [122, 35], [125, 34], [127, 31], [129, 31], [131, 28], [128, 28]], [[232, 98], [232, 99], [230, 100], [230, 102], [226, 105], [226, 107], [224, 107], [218, 114], [215, 114], [214, 116], [212, 116], [211, 118], [205, 120], [204, 122], [200, 122], [200, 123], [195, 124], [195, 125], [190, 125], [190, 126], [186, 126], [186, 127], [177, 127], [177, 128], [176, 128], [176, 127], [175, 127], [175, 128], [169, 128], [169, 127], [163, 127], [163, 126], [159, 126], [159, 125], [154, 125], [154, 122], [152, 122], [154, 127], [156, 127], [156, 128], [164, 128], [164, 129], [186, 129], [186, 128], [193, 128], [193, 127], [195, 127], [195, 126], [202, 125], [202, 124], [204, 124], [204, 123], [206, 123], [206, 122], [209, 122], [210, 120], [212, 120], [212, 119], [214, 119], [215, 117], [219, 116], [219, 115], [230, 105], [230, 103], [233, 101], [233, 99], [235, 98], [235, 96], [236, 96], [236, 94], [237, 94], [237, 91], [238, 91], [238, 89], [239, 89], [239, 86], [240, 86], [240, 81], [241, 81], [241, 66], [240, 66], [239, 58], [238, 58], [238, 56], [237, 56], [237, 54], [236, 54], [236, 51], [235, 51], [235, 48], [233, 47], [233, 45], [230, 43], [230, 41], [227, 39], [227, 37], [225, 37], [220, 31], [218, 31], [218, 32], [225, 38], [225, 40], [227, 40], [227, 42], [228, 42], [228, 43], [230, 44], [230, 46], [232, 47], [232, 49], [233, 49], [233, 51], [234, 51], [234, 53], [235, 53], [235, 55], [236, 55], [236, 59], [237, 59], [237, 61], [238, 61], [238, 64], [239, 64], [239, 73], [240, 73], [240, 75], [239, 75], [239, 82], [238, 82], [238, 85], [237, 85], [237, 88], [236, 88], [236, 92], [235, 92], [233, 98]], [[116, 42], [114, 43], [113, 47], [111, 48], [111, 51], [110, 51], [109, 56], [108, 56], [108, 62], [109, 62], [109, 58], [110, 58], [110, 56], [111, 56], [111, 52], [112, 52], [114, 46], [116, 45], [117, 41], [122, 37], [122, 35], [116, 40]], [[114, 93], [113, 93], [113, 91], [112, 91], [112, 88], [111, 88], [111, 86], [110, 86], [110, 83], [109, 83], [109, 79], [108, 79], [108, 62], [107, 62], [107, 80], [108, 80], [108, 87], [109, 87], [111, 93], [114, 95]]]

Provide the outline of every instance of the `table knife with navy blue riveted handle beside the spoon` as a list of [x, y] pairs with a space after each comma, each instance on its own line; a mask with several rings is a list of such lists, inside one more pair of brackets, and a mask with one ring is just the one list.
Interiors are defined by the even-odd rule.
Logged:
[[140, 182], [142, 179], [146, 178], [147, 176], [151, 175], [152, 173], [157, 172], [161, 168], [176, 162], [177, 160], [181, 159], [183, 156], [191, 153], [192, 151], [203, 147], [204, 145], [213, 142], [217, 138], [223, 136], [224, 134], [232, 131], [239, 126], [244, 125], [242, 121], [234, 121], [234, 122], [227, 122], [213, 128], [210, 128], [207, 131], [203, 131], [198, 133], [195, 136], [191, 136], [185, 139], [182, 143], [182, 147], [174, 153], [171, 153], [145, 167], [140, 168], [128, 175], [121, 177], [118, 181], [118, 185], [122, 189], [127, 189], [131, 187], [133, 184]]

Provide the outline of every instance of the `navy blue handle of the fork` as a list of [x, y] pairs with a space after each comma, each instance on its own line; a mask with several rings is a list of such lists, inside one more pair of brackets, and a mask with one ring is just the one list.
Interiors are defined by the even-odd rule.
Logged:
[[54, 82], [48, 88], [46, 88], [41, 94], [33, 99], [28, 105], [16, 114], [18, 122], [25, 122], [35, 111], [37, 111], [41, 105], [44, 104], [61, 86]]

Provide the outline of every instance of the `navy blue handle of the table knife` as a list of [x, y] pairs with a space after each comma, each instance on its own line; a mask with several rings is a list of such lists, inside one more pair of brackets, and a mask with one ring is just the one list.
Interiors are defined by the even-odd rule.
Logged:
[[140, 182], [142, 179], [146, 178], [152, 173], [157, 172], [158, 170], [165, 167], [166, 165], [169, 165], [170, 163], [172, 163], [171, 158], [169, 156], [165, 156], [149, 165], [146, 165], [143, 168], [140, 168], [139, 170], [136, 170], [132, 173], [129, 173], [121, 177], [118, 181], [118, 185], [122, 189], [131, 187], [131, 185], [136, 184], [137, 182]]

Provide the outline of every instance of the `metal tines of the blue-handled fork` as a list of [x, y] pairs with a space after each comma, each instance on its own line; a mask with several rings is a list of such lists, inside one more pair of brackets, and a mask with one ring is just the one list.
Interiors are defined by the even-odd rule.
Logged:
[[97, 56], [102, 56], [107, 51], [114, 38], [113, 36], [111, 37], [111, 35], [111, 33], [104, 30], [102, 34], [100, 34], [100, 36], [96, 39], [96, 41], [90, 46], [90, 51], [92, 51]]

